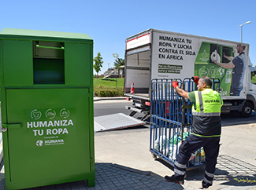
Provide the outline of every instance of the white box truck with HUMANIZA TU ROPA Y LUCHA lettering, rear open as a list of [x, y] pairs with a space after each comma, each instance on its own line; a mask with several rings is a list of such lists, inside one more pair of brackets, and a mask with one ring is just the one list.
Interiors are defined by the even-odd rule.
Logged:
[[126, 38], [124, 73], [126, 108], [142, 120], [150, 117], [151, 79], [218, 78], [222, 111], [249, 117], [255, 110], [256, 68], [245, 43], [148, 29]]

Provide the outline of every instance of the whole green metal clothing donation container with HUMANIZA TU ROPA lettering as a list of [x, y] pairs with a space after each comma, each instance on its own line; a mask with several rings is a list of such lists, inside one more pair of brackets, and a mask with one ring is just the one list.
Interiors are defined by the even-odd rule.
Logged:
[[0, 32], [6, 189], [95, 186], [92, 63], [88, 35]]

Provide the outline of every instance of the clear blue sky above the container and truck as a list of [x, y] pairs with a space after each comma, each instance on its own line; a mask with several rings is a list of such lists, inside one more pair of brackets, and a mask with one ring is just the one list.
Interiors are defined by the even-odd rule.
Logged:
[[154, 28], [250, 44], [256, 65], [255, 0], [8, 0], [1, 2], [2, 28], [85, 33], [94, 40], [94, 57], [102, 53], [103, 73], [113, 67], [112, 53], [124, 58], [125, 38]]

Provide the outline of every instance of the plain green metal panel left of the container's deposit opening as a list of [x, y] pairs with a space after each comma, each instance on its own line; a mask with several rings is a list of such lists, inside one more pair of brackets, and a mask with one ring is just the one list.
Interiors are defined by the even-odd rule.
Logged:
[[30, 86], [33, 84], [32, 42], [24, 40], [3, 40], [2, 50], [6, 86]]

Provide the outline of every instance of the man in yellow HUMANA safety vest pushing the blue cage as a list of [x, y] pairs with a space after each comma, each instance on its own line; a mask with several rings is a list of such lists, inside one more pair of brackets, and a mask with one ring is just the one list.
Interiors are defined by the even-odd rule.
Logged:
[[209, 188], [213, 185], [213, 176], [217, 164], [217, 155], [220, 148], [221, 138], [221, 106], [223, 101], [221, 94], [212, 90], [212, 81], [209, 77], [193, 78], [198, 85], [198, 91], [191, 93], [180, 89], [178, 82], [173, 81], [173, 88], [191, 102], [193, 123], [191, 135], [180, 145], [179, 153], [174, 164], [174, 175], [165, 176], [165, 180], [184, 184], [187, 161], [191, 154], [203, 147], [206, 153], [205, 177], [202, 181], [202, 188]]

